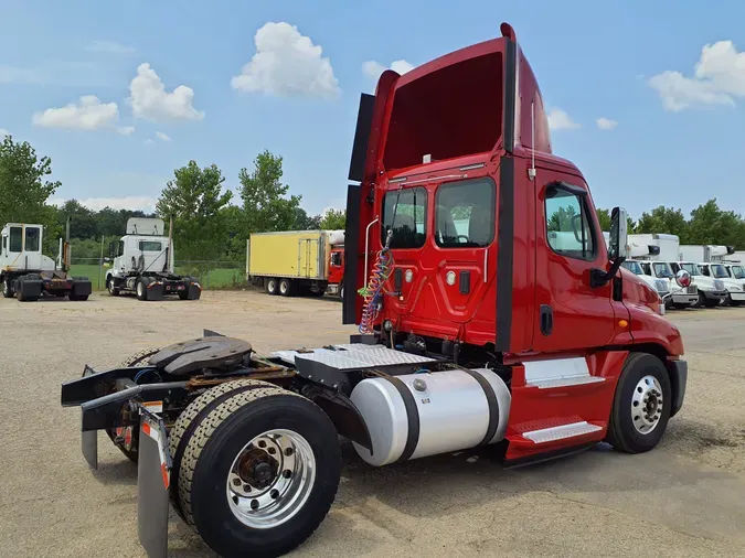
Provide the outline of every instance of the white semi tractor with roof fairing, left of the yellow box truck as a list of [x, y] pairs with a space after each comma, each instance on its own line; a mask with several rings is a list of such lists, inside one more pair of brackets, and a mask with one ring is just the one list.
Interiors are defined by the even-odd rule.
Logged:
[[[171, 227], [172, 228], [172, 227]], [[134, 292], [138, 300], [161, 300], [178, 294], [198, 300], [202, 286], [193, 277], [173, 273], [173, 232], [166, 233], [163, 219], [131, 217], [126, 235], [109, 245], [111, 268], [106, 271], [106, 289], [113, 297]]]

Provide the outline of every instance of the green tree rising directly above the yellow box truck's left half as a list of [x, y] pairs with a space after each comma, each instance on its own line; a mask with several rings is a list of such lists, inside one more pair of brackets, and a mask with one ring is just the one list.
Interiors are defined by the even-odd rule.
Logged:
[[283, 158], [268, 150], [254, 160], [249, 173], [241, 169], [241, 197], [245, 217], [245, 232], [291, 230], [297, 222], [301, 196], [287, 196], [289, 186], [281, 183]]

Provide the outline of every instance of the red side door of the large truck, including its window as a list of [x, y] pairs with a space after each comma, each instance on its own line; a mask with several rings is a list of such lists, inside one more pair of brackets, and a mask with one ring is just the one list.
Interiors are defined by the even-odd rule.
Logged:
[[542, 169], [539, 176], [543, 180], [536, 182], [533, 348], [604, 346], [613, 339], [616, 316], [611, 283], [589, 286], [590, 269], [606, 269], [608, 257], [587, 185], [576, 176]]

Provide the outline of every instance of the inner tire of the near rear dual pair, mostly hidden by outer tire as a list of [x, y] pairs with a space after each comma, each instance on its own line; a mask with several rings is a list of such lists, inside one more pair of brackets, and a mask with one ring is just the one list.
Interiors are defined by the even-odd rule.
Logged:
[[192, 433], [194, 433], [196, 425], [202, 421], [204, 415], [210, 412], [212, 407], [220, 405], [220, 403], [232, 397], [236, 393], [245, 391], [247, 389], [272, 387], [275, 386], [268, 382], [249, 378], [225, 382], [200, 395], [189, 404], [181, 415], [179, 415], [173, 428], [171, 428], [171, 431], [169, 432], [169, 447], [171, 460], [173, 462], [173, 468], [171, 469], [171, 486], [169, 490], [173, 508], [182, 519], [185, 521], [179, 500], [179, 470], [181, 468], [183, 450], [187, 447], [187, 443], [189, 443]]

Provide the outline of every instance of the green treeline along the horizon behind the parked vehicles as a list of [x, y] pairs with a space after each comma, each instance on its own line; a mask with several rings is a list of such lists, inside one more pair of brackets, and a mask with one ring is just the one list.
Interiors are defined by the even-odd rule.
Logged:
[[[44, 250], [56, 253], [57, 238], [71, 218], [74, 258], [98, 258], [108, 254], [108, 244], [124, 235], [130, 217], [173, 218], [175, 256], [180, 260], [233, 260], [246, 255], [251, 233], [268, 230], [341, 229], [343, 211], [310, 215], [301, 207], [302, 197], [283, 183], [283, 158], [264, 151], [251, 169], [238, 172], [237, 195], [225, 190], [225, 176], [212, 164], [195, 161], [177, 169], [164, 184], [156, 212], [105, 207], [92, 211], [75, 200], [61, 207], [49, 204], [60, 187], [50, 181], [52, 161], [39, 157], [28, 142], [6, 136], [0, 142], [0, 224], [8, 222], [41, 223], [45, 226]], [[610, 229], [610, 212], [598, 210], [604, 230]], [[745, 249], [745, 221], [739, 214], [722, 210], [716, 198], [709, 200], [690, 213], [659, 206], [629, 218], [630, 233], [667, 233], [680, 237], [681, 244], [714, 244]]]

